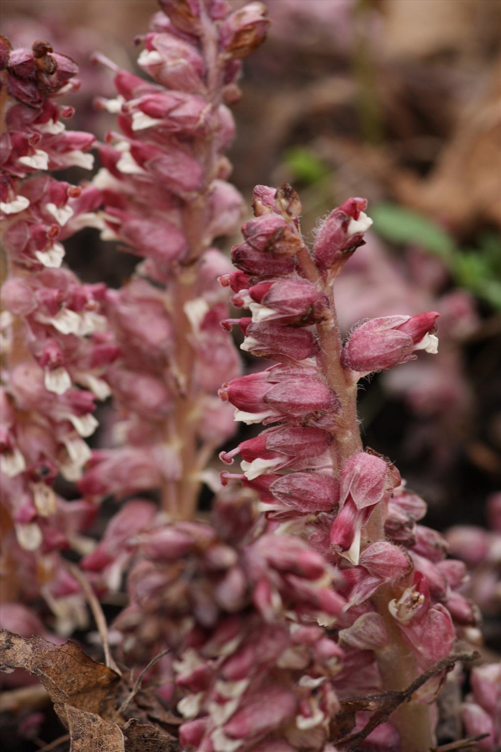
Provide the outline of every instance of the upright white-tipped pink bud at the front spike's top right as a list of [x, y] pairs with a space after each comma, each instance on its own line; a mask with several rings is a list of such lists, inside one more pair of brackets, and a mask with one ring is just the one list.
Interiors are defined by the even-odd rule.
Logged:
[[364, 243], [363, 237], [372, 225], [364, 214], [366, 199], [348, 199], [327, 217], [315, 238], [315, 263], [321, 271], [340, 271], [343, 265]]

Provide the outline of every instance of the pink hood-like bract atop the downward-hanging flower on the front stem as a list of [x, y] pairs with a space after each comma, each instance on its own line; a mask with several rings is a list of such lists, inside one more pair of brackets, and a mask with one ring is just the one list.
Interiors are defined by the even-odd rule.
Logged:
[[353, 454], [341, 469], [340, 504], [349, 496], [358, 509], [377, 504], [385, 491], [387, 471], [381, 457], [367, 452]]

